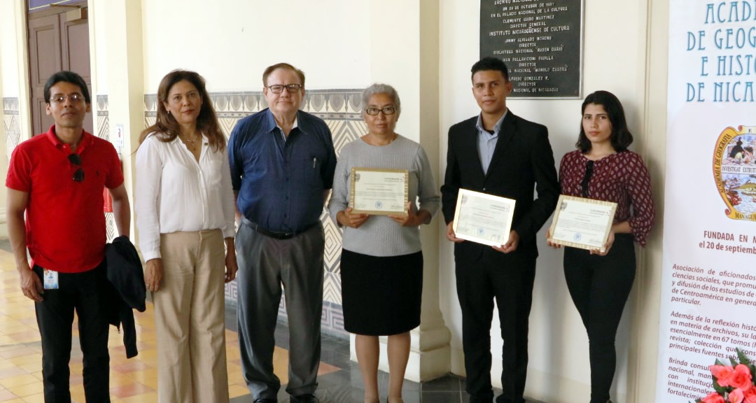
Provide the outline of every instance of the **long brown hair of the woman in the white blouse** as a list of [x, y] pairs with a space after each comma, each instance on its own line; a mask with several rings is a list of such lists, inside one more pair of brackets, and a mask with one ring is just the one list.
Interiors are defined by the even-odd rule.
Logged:
[[207, 94], [205, 79], [194, 71], [188, 70], [173, 70], [160, 80], [160, 87], [157, 89], [157, 119], [153, 126], [141, 132], [139, 144], [142, 144], [151, 133], [160, 133], [158, 139], [166, 143], [178, 137], [181, 129], [178, 127], [176, 119], [166, 110], [166, 102], [168, 102], [168, 94], [173, 85], [183, 80], [191, 82], [200, 92], [200, 98], [202, 98], [200, 115], [197, 116], [197, 130], [207, 136], [208, 144], [212, 147], [212, 150], [224, 150], [226, 137], [218, 124], [218, 117], [215, 116], [215, 109], [212, 107], [212, 101]]

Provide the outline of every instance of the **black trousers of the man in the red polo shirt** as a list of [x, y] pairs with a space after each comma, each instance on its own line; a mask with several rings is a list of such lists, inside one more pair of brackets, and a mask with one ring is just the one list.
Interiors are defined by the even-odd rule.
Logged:
[[[42, 268], [34, 272], [42, 279]], [[87, 403], [110, 402], [110, 355], [107, 352], [107, 304], [103, 285], [105, 264], [83, 273], [59, 273], [57, 290], [45, 290], [35, 302], [42, 336], [42, 380], [45, 403], [70, 403], [68, 367], [71, 358], [73, 312], [79, 318], [79, 344], [84, 354], [84, 392]]]

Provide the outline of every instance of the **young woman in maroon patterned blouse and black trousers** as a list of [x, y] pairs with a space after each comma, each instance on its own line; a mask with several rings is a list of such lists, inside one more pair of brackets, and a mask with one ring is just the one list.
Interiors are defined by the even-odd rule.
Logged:
[[649, 171], [627, 150], [633, 136], [617, 97], [593, 92], [582, 112], [578, 150], [562, 158], [559, 187], [565, 195], [617, 203], [617, 212], [604, 252], [565, 247], [564, 270], [590, 343], [590, 403], [605, 403], [615, 374], [615, 335], [635, 277], [633, 241], [646, 245], [654, 204]]

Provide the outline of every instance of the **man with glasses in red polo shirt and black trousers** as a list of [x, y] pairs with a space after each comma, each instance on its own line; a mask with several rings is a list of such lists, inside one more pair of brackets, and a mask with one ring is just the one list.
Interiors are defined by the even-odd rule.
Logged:
[[86, 400], [109, 402], [103, 189], [110, 190], [116, 227], [125, 236], [131, 220], [129, 198], [113, 145], [82, 129], [91, 110], [82, 77], [69, 71], [52, 75], [45, 84], [45, 102], [54, 126], [19, 144], [8, 167], [8, 234], [23, 295], [35, 301], [45, 403], [71, 401], [74, 309]]

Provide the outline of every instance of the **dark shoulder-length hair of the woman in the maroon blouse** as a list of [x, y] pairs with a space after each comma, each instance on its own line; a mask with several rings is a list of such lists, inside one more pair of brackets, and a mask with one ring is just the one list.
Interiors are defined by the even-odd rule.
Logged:
[[578, 143], [575, 147], [578, 147], [582, 153], [590, 151], [590, 140], [585, 135], [583, 129], [583, 114], [585, 113], [585, 107], [588, 104], [601, 105], [606, 110], [606, 114], [609, 115], [609, 122], [612, 124], [612, 135], [609, 138], [612, 141], [612, 147], [616, 152], [627, 150], [627, 147], [633, 143], [633, 135], [630, 130], [627, 129], [627, 121], [624, 119], [624, 109], [620, 104], [617, 97], [609, 91], [596, 91], [593, 94], [585, 97], [583, 101], [583, 107], [581, 108], [581, 122], [580, 122], [580, 135], [578, 136]]

